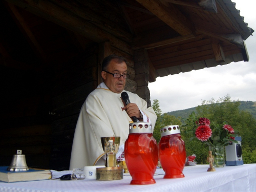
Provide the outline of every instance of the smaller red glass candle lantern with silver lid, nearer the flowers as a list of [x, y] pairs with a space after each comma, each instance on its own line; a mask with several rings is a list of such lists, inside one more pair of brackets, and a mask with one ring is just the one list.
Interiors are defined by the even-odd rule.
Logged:
[[184, 177], [186, 162], [185, 143], [180, 136], [179, 125], [168, 125], [160, 129], [158, 143], [159, 160], [165, 172], [164, 179]]

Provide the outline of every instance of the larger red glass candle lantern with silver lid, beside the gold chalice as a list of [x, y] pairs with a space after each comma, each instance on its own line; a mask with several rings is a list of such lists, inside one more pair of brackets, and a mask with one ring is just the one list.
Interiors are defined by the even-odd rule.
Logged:
[[124, 144], [124, 157], [132, 176], [131, 184], [156, 183], [153, 177], [157, 168], [158, 148], [151, 123], [129, 124], [129, 136]]

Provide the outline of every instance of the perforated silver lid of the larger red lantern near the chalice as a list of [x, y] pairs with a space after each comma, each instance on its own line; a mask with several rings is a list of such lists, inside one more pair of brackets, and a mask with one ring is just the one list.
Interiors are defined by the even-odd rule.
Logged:
[[147, 122], [130, 123], [129, 133], [153, 133], [152, 123], [147, 123]]

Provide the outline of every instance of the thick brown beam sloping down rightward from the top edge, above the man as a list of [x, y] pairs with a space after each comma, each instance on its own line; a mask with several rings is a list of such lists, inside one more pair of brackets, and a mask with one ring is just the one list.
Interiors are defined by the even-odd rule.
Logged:
[[193, 28], [187, 22], [187, 18], [172, 4], [166, 7], [157, 0], [136, 0], [146, 9], [155, 14], [164, 23], [173, 28], [181, 35], [189, 35], [193, 33]]

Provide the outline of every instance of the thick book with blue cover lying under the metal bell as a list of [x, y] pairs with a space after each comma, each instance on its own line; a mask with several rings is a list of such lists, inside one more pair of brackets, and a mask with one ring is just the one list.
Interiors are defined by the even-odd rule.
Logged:
[[20, 182], [20, 181], [36, 181], [51, 179], [50, 170], [29, 168], [25, 171], [13, 172], [7, 170], [8, 166], [0, 166], [0, 181], [4, 182]]

